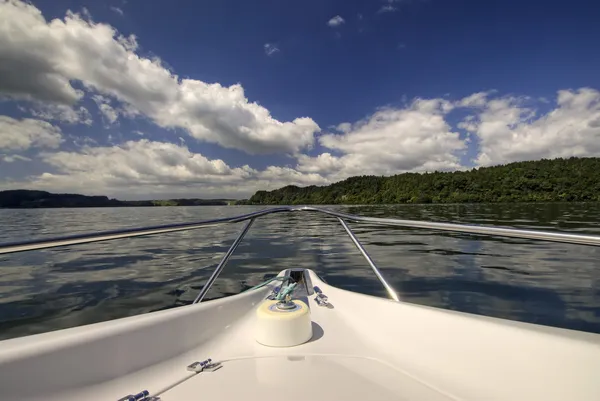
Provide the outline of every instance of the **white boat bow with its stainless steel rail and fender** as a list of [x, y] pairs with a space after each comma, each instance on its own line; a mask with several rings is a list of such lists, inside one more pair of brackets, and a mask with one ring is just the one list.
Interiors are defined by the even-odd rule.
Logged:
[[[338, 218], [390, 299], [311, 270], [201, 302], [254, 219]], [[192, 305], [0, 342], [0, 400], [600, 400], [600, 335], [402, 302], [346, 221], [600, 246], [600, 237], [309, 207], [0, 245], [0, 254], [247, 221]]]

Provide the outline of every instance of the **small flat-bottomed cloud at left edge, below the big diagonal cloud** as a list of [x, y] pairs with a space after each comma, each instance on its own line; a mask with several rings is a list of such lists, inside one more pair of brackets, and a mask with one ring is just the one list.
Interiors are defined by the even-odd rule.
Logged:
[[58, 148], [61, 130], [46, 121], [0, 116], [0, 149]]

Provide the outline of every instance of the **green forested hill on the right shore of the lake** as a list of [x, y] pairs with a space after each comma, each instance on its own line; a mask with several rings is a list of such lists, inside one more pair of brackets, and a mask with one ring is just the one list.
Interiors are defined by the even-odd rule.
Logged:
[[600, 158], [538, 160], [469, 171], [360, 176], [258, 191], [251, 205], [600, 201]]

